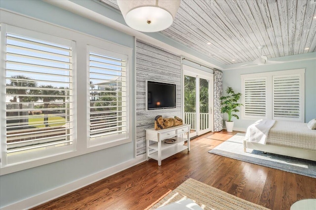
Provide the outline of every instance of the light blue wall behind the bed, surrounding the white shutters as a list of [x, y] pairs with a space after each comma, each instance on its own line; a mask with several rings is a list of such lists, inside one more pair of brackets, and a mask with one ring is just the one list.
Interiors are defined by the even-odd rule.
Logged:
[[[307, 59], [312, 59], [312, 60], [307, 60]], [[257, 65], [253, 67], [247, 67], [247, 68], [225, 70], [223, 71], [223, 90], [226, 90], [227, 87], [232, 87], [235, 91], [241, 92], [241, 76], [240, 76], [241, 74], [251, 74], [251, 73], [305, 68], [305, 122], [308, 122], [316, 118], [316, 53], [301, 54], [301, 55], [296, 55], [296, 56], [287, 56], [287, 57], [277, 58], [274, 60], [278, 60], [278, 61], [299, 60], [299, 61], [284, 62], [284, 63], [278, 63], [278, 64], [269, 64], [269, 65]], [[225, 95], [225, 92], [224, 92], [224, 95]], [[235, 121], [234, 128], [247, 129], [247, 127], [255, 121], [255, 120], [242, 120], [241, 113], [237, 115], [239, 116], [239, 120], [233, 118], [233, 120]], [[225, 114], [224, 121], [227, 119], [228, 117]]]

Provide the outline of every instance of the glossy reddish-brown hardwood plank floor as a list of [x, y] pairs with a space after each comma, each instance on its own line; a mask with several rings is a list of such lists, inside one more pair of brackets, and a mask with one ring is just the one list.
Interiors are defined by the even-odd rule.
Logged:
[[316, 198], [316, 179], [271, 169], [207, 151], [237, 132], [211, 132], [191, 140], [191, 150], [149, 160], [40, 205], [42, 209], [142, 210], [189, 178], [273, 210]]

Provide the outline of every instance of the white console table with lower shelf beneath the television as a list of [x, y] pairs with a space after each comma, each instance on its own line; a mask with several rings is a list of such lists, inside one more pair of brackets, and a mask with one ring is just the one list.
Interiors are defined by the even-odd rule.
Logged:
[[[161, 160], [170, 157], [182, 150], [190, 151], [190, 124], [182, 124], [169, 127], [162, 130], [155, 128], [146, 129], [146, 160], [149, 158], [158, 160], [158, 166], [161, 166]], [[173, 144], [167, 144], [165, 139], [176, 139]], [[149, 141], [157, 142], [149, 145]], [[188, 141], [187, 146], [184, 142]]]

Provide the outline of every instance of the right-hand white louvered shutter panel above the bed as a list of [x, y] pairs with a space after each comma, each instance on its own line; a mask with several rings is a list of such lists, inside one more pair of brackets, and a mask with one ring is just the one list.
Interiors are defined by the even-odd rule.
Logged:
[[300, 119], [300, 75], [273, 76], [274, 119]]

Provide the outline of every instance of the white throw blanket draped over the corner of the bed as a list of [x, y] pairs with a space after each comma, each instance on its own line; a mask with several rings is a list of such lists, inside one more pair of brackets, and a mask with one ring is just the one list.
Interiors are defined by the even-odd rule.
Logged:
[[276, 120], [258, 120], [247, 128], [246, 140], [265, 145], [270, 128]]

